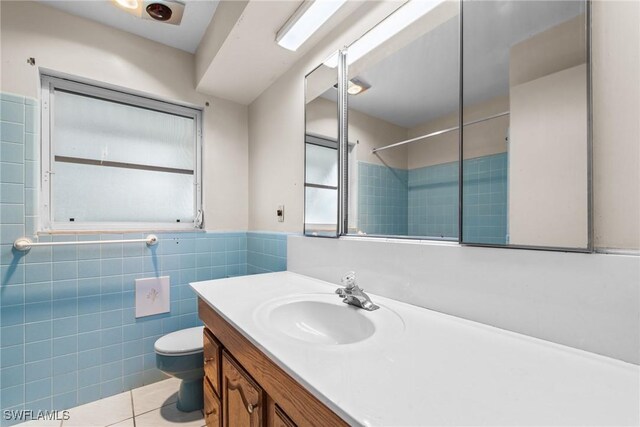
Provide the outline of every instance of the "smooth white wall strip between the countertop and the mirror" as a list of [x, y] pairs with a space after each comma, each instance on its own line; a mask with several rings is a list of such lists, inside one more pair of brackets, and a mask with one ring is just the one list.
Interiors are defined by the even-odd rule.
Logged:
[[287, 270], [640, 364], [640, 257], [289, 236]]

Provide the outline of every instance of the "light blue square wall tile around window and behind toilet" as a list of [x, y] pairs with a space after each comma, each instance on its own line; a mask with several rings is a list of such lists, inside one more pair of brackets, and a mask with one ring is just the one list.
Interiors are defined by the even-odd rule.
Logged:
[[[38, 109], [28, 98], [2, 94], [1, 100], [2, 409], [67, 409], [161, 380], [155, 340], [200, 324], [189, 282], [286, 270], [286, 235], [278, 233], [159, 232], [151, 248], [134, 243], [15, 251], [13, 241], [33, 236], [37, 223]], [[170, 277], [171, 311], [136, 319], [134, 280], [155, 276]]]

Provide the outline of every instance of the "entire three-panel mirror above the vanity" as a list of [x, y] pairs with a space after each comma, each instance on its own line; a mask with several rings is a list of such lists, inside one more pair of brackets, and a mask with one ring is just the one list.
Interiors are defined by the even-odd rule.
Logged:
[[325, 61], [306, 79], [306, 234], [590, 250], [588, 12], [410, 0]]

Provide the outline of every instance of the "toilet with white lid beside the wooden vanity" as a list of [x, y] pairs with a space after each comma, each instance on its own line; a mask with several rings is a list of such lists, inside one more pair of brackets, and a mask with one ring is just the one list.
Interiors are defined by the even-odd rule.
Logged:
[[155, 343], [156, 366], [162, 372], [182, 380], [177, 407], [184, 412], [202, 409], [204, 378], [203, 327], [171, 332]]

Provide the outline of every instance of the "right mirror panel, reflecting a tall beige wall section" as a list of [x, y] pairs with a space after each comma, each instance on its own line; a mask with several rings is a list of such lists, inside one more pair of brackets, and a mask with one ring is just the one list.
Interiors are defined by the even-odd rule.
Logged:
[[586, 2], [462, 7], [462, 242], [587, 249]]

